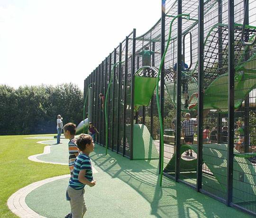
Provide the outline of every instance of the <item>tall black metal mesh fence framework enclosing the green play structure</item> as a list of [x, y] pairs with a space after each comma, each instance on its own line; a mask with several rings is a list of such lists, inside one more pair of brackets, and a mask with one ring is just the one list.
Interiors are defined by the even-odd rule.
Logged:
[[[247, 0], [244, 0], [245, 3], [247, 2]], [[223, 3], [224, 2], [224, 3]], [[223, 13], [224, 7], [225, 7], [225, 2], [228, 2], [228, 16]], [[158, 27], [161, 26], [161, 33], [160, 33], [160, 28], [158, 28], [158, 30], [156, 30], [155, 32], [153, 31], [154, 28], [157, 27], [157, 24], [152, 27], [152, 29], [150, 31], [148, 31], [145, 35], [136, 37], [136, 29], [133, 29], [132, 34], [128, 35], [126, 37], [126, 39], [121, 42], [119, 44], [119, 46], [117, 48], [114, 49], [113, 53], [110, 53], [110, 55], [108, 57], [106, 57], [106, 59], [89, 75], [89, 77], [87, 77], [84, 80], [84, 99], [85, 96], [88, 92], [88, 90], [86, 89], [86, 87], [88, 87], [88, 85], [91, 82], [96, 82], [95, 85], [93, 86], [93, 94], [94, 94], [94, 100], [95, 102], [91, 102], [95, 107], [93, 110], [93, 117], [92, 117], [92, 121], [95, 123], [95, 126], [100, 128], [100, 131], [105, 132], [105, 120], [103, 122], [101, 122], [101, 120], [104, 118], [104, 113], [101, 112], [101, 100], [99, 99], [98, 95], [99, 93], [104, 93], [104, 96], [106, 95], [106, 88], [108, 86], [108, 84], [110, 85], [110, 76], [111, 76], [111, 71], [112, 71], [112, 67], [113, 64], [116, 64], [117, 62], [121, 62], [123, 60], [122, 58], [122, 53], [124, 53], [122, 50], [125, 46], [125, 66], [124, 66], [124, 72], [122, 69], [121, 64], [119, 64], [119, 67], [117, 69], [114, 69], [114, 73], [116, 76], [118, 72], [118, 83], [115, 84], [115, 82], [112, 83], [112, 87], [110, 90], [110, 97], [109, 97], [109, 102], [107, 104], [108, 110], [112, 111], [111, 116], [109, 116], [109, 122], [111, 130], [110, 130], [110, 134], [109, 134], [109, 145], [110, 145], [110, 149], [112, 151], [115, 150], [115, 152], [122, 154], [123, 156], [128, 156], [131, 160], [133, 160], [133, 131], [134, 131], [134, 127], [133, 127], [133, 121], [134, 121], [134, 82], [135, 82], [135, 72], [136, 69], [138, 69], [140, 67], [140, 64], [142, 62], [142, 58], [140, 58], [139, 56], [137, 56], [137, 52], [143, 50], [143, 48], [146, 45], [150, 45], [150, 48], [152, 51], [155, 52], [159, 51], [159, 49], [156, 48], [157, 45], [161, 46], [161, 56], [163, 56], [164, 51], [165, 51], [165, 43], [166, 43], [166, 37], [165, 37], [165, 31], [166, 31], [166, 27], [170, 24], [170, 22], [166, 22], [167, 17], [172, 17], [173, 15], [167, 15], [169, 12], [169, 9], [166, 9], [167, 12], [165, 11], [165, 4], [166, 4], [166, 0], [162, 0], [162, 17], [161, 20], [158, 21]], [[183, 0], [177, 0], [177, 2], [175, 3], [175, 7], [177, 6], [177, 12], [175, 12], [175, 14], [182, 14], [182, 12], [186, 12], [186, 6], [185, 4], [183, 4]], [[168, 57], [165, 60], [165, 64], [162, 67], [162, 72], [165, 72], [166, 69], [169, 68], [169, 66], [172, 66], [173, 64], [173, 60], [175, 59], [175, 62], [177, 63], [177, 80], [176, 80], [176, 98], [177, 98], [177, 104], [176, 104], [176, 131], [175, 131], [175, 145], [176, 145], [176, 159], [175, 159], [175, 175], [174, 177], [170, 174], [164, 173], [167, 177], [174, 179], [176, 182], [183, 182], [186, 185], [189, 185], [190, 187], [192, 187], [193, 189], [196, 189], [196, 191], [202, 192], [204, 194], [207, 194], [221, 202], [226, 203], [228, 206], [232, 206], [238, 209], [241, 209], [245, 212], [248, 212], [250, 214], [252, 214], [251, 211], [248, 211], [247, 209], [243, 209], [241, 208], [239, 205], [235, 205], [234, 203], [232, 203], [233, 200], [233, 171], [235, 169], [233, 169], [233, 163], [234, 163], [234, 131], [235, 131], [235, 108], [234, 108], [234, 102], [235, 102], [235, 96], [234, 96], [234, 85], [235, 85], [235, 80], [234, 80], [234, 76], [235, 76], [235, 16], [234, 16], [234, 11], [235, 11], [235, 5], [234, 5], [234, 1], [233, 0], [219, 0], [218, 1], [218, 8], [215, 8], [215, 12], [218, 10], [218, 23], [222, 23], [225, 22], [225, 20], [227, 20], [228, 18], [228, 46], [225, 47], [224, 45], [222, 45], [221, 43], [219, 43], [219, 46], [217, 48], [217, 56], [218, 56], [218, 70], [219, 70], [219, 74], [223, 74], [225, 73], [225, 71], [223, 70], [223, 68], [225, 67], [225, 63], [223, 60], [223, 57], [226, 55], [225, 52], [227, 52], [228, 50], [228, 56], [229, 56], [229, 60], [228, 60], [228, 70], [229, 70], [229, 92], [228, 92], [228, 150], [227, 150], [227, 178], [226, 178], [226, 196], [224, 197], [220, 197], [217, 195], [214, 195], [214, 193], [206, 191], [203, 187], [203, 179], [205, 178], [205, 173], [203, 170], [203, 125], [204, 124], [204, 114], [203, 114], [203, 101], [204, 101], [204, 87], [205, 87], [205, 83], [207, 81], [207, 79], [205, 79], [205, 75], [206, 75], [206, 70], [205, 70], [205, 43], [204, 43], [204, 34], [209, 30], [206, 27], [209, 28], [209, 26], [212, 24], [210, 23], [208, 26], [206, 25], [206, 22], [209, 22], [207, 20], [207, 17], [205, 16], [205, 0], [199, 0], [199, 9], [198, 9], [198, 23], [196, 25], [198, 25], [198, 29], [197, 29], [197, 33], [198, 36], [196, 36], [195, 34], [192, 35], [192, 33], [190, 31], [184, 32], [183, 31], [183, 18], [178, 18], [177, 21], [177, 25], [175, 26], [176, 28], [174, 28], [175, 34], [177, 34], [177, 37], [175, 38], [175, 42], [172, 42], [171, 46], [172, 49], [175, 50], [175, 52], [177, 51], [177, 55], [176, 53], [174, 54], [173, 57]], [[176, 9], [176, 8], [175, 8]], [[245, 9], [245, 18], [244, 18], [244, 23], [243, 23], [243, 27], [245, 27], [246, 24], [249, 24], [249, 20], [248, 20], [248, 8], [247, 5], [245, 4], [244, 6]], [[166, 16], [167, 15], [167, 16]], [[216, 15], [216, 13], [214, 13], [214, 16]], [[226, 17], [225, 17], [226, 16]], [[173, 16], [174, 17], [174, 16]], [[172, 18], [173, 18], [172, 17]], [[195, 18], [193, 18], [192, 20], [196, 20]], [[170, 20], [168, 20], [170, 21]], [[195, 26], [194, 26], [195, 27]], [[225, 33], [223, 33], [223, 28], [225, 27], [219, 27], [219, 29], [217, 30], [217, 36], [219, 37], [219, 39], [222, 39], [223, 34], [225, 35]], [[157, 29], [157, 28], [156, 28]], [[194, 29], [193, 29], [194, 30]], [[155, 35], [154, 35], [155, 34]], [[198, 54], [196, 54], [196, 56], [198, 56], [198, 68], [196, 69], [198, 72], [197, 75], [197, 79], [198, 79], [198, 109], [197, 109], [197, 114], [198, 114], [198, 129], [197, 129], [197, 141], [198, 141], [198, 145], [197, 145], [197, 168], [196, 168], [196, 185], [194, 185], [195, 183], [189, 183], [189, 182], [185, 182], [182, 177], [183, 175], [181, 174], [180, 171], [180, 160], [181, 160], [181, 115], [183, 113], [182, 111], [182, 91], [181, 91], [181, 87], [182, 87], [182, 53], [184, 54], [185, 52], [185, 36], [189, 34], [190, 35], [190, 48], [194, 49], [194, 45], [192, 45], [192, 38], [195, 41], [195, 37], [197, 37], [197, 41], [196, 41], [196, 45], [198, 45]], [[132, 36], [131, 36], [132, 35]], [[182, 36], [183, 36], [183, 40], [182, 40]], [[154, 37], [154, 39], [152, 38]], [[248, 41], [247, 36], [242, 36], [245, 37], [245, 41]], [[226, 40], [227, 38], [225, 38]], [[132, 51], [131, 49], [129, 50], [128, 46], [129, 46], [129, 40], [132, 40]], [[220, 41], [220, 40], [219, 40]], [[182, 43], [183, 42], [183, 43]], [[123, 44], [125, 43], [125, 45]], [[138, 44], [136, 44], [138, 43]], [[139, 44], [140, 43], [140, 44]], [[157, 44], [159, 43], [159, 44]], [[138, 45], [138, 46], [137, 46]], [[159, 47], [158, 47], [159, 48]], [[228, 49], [227, 49], [228, 48]], [[225, 50], [226, 49], [226, 50]], [[183, 52], [182, 52], [183, 51]], [[193, 50], [194, 51], [194, 50]], [[130, 54], [132, 53], [132, 54]], [[119, 55], [119, 58], [117, 58], [117, 55]], [[151, 59], [151, 65], [152, 66], [158, 66], [158, 62], [159, 60], [157, 60], [157, 55], [152, 54], [152, 59]], [[176, 59], [177, 57], [177, 59]], [[195, 65], [195, 63], [192, 63], [192, 49], [190, 51], [190, 67], [192, 65]], [[245, 56], [245, 60], [248, 60], [249, 55]], [[118, 59], [118, 60], [117, 60]], [[159, 58], [158, 58], [159, 59]], [[128, 67], [128, 62], [131, 62], [131, 69]], [[158, 62], [157, 62], [158, 61]], [[129, 63], [130, 63], [129, 62]], [[105, 65], [104, 65], [105, 64]], [[130, 65], [129, 65], [130, 66]], [[190, 68], [189, 67], [189, 68]], [[104, 69], [103, 69], [104, 68]], [[131, 84], [130, 84], [130, 89], [131, 89], [131, 97], [128, 98], [128, 74], [131, 73]], [[166, 72], [165, 72], [166, 73]], [[164, 102], [165, 102], [165, 73], [161, 74], [161, 89], [160, 89], [160, 109], [161, 109], [161, 113], [164, 114], [165, 109], [164, 109]], [[123, 78], [124, 77], [124, 81]], [[107, 78], [109, 78], [107, 80]], [[117, 78], [114, 78], [114, 80], [116, 80]], [[118, 87], [116, 87], [116, 85], [118, 84]], [[117, 105], [115, 103], [115, 95], [117, 95]], [[155, 95], [153, 95], [154, 97]], [[150, 121], [147, 121], [148, 124], [150, 122], [150, 133], [151, 135], [153, 135], [154, 132], [154, 108], [155, 108], [155, 98], [151, 99], [150, 102], [150, 110], [149, 108], [147, 108], [146, 106], [142, 107], [142, 123], [146, 124], [146, 118], [150, 117]], [[111, 99], [111, 100], [110, 100]], [[128, 100], [130, 99], [130, 102], [128, 102]], [[94, 101], [93, 100], [93, 101]], [[112, 101], [112, 102], [111, 102]], [[123, 106], [120, 106], [120, 104], [122, 103], [121, 101], [123, 101]], [[87, 104], [87, 102], [86, 102]], [[114, 114], [114, 109], [117, 106], [117, 113]], [[122, 108], [123, 107], [123, 108]], [[130, 107], [130, 108], [129, 108]], [[245, 120], [245, 144], [246, 146], [246, 152], [248, 152], [248, 146], [249, 146], [249, 125], [250, 125], [250, 120], [249, 120], [249, 115], [250, 115], [250, 101], [249, 101], [249, 96], [247, 97], [247, 99], [245, 100], [245, 113], [244, 113], [244, 120]], [[88, 110], [85, 109], [85, 111], [87, 112]], [[128, 112], [130, 111], [129, 117], [128, 117]], [[123, 113], [123, 117], [122, 114]], [[214, 113], [211, 111], [211, 113]], [[217, 125], [218, 125], [218, 135], [220, 136], [220, 132], [221, 132], [221, 125], [222, 125], [222, 118], [225, 117], [227, 115], [223, 115], [221, 113], [217, 113], [215, 112], [215, 114], [212, 115], [213, 119], [217, 119]], [[212, 118], [211, 117], [211, 118]], [[217, 118], [216, 118], [217, 117]], [[119, 123], [119, 119], [122, 118], [122, 121]], [[114, 122], [114, 120], [117, 120]], [[127, 120], [129, 120], [128, 123]], [[162, 121], [164, 123], [164, 118], [162, 118]], [[122, 123], [123, 122], [123, 123]], [[138, 122], [138, 120], [136, 119], [136, 123]], [[215, 121], [216, 122], [216, 121]], [[102, 125], [102, 123], [104, 125]], [[167, 123], [167, 122], [166, 122]], [[116, 126], [115, 126], [116, 125]], [[129, 133], [127, 132], [128, 126], [130, 125], [130, 129], [129, 129]], [[119, 131], [120, 128], [123, 128], [123, 131]], [[104, 135], [99, 135], [96, 137], [96, 141], [100, 144], [102, 144], [103, 146], [105, 145], [105, 134]], [[115, 137], [115, 138], [114, 138]], [[218, 143], [220, 143], [220, 137], [218, 137]], [[122, 142], [123, 141], [123, 144]], [[130, 154], [128, 155], [128, 150], [127, 150], [127, 141], [129, 141], [129, 152]], [[103, 143], [101, 143], [103, 142]], [[161, 144], [161, 142], [160, 142]], [[117, 147], [115, 147], [114, 145], [116, 145]], [[121, 147], [123, 146], [123, 147]], [[160, 150], [161, 151], [161, 150]], [[159, 156], [160, 158], [163, 156], [164, 154], [162, 154], [160, 152]], [[160, 164], [159, 164], [159, 173], [161, 171], [160, 168]], [[192, 172], [194, 173], [194, 171]]]

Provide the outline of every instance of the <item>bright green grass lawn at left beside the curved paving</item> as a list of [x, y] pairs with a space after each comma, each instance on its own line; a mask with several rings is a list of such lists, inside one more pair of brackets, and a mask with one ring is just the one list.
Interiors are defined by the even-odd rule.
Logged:
[[25, 137], [29, 136], [0, 136], [0, 217], [17, 217], [7, 206], [7, 200], [14, 192], [33, 182], [69, 173], [68, 166], [29, 161], [28, 156], [43, 153], [46, 145], [38, 144], [38, 139]]

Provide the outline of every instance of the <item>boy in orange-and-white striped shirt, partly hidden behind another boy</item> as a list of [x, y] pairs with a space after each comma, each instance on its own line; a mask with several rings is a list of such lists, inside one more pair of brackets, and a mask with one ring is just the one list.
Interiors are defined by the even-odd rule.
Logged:
[[[68, 166], [69, 166], [69, 170], [70, 170], [70, 179], [73, 177], [73, 168], [74, 168], [75, 158], [79, 154], [78, 148], [75, 144], [76, 140], [74, 138], [75, 128], [76, 128], [76, 126], [73, 123], [67, 123], [63, 127], [64, 136], [65, 136], [65, 138], [69, 139], [69, 142], [68, 142], [68, 153], [69, 153]], [[70, 200], [67, 192], [66, 192], [66, 199]], [[71, 213], [67, 214], [65, 216], [65, 218], [72, 218]]]

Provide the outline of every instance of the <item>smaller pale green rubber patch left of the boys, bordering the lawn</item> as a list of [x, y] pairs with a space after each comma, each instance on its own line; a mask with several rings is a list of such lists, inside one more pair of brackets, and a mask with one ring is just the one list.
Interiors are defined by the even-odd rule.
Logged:
[[42, 154], [37, 156], [38, 160], [46, 161], [46, 162], [54, 162], [60, 164], [68, 164], [68, 139], [62, 139], [62, 144], [55, 145], [56, 140], [49, 140], [41, 142], [51, 146], [50, 154]]

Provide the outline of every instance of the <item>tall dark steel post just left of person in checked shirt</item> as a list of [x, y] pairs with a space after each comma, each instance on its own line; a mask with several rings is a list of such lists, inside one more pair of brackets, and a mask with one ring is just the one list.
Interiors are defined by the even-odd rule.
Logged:
[[[178, 14], [182, 14], [182, 0], [178, 0]], [[181, 76], [182, 76], [182, 18], [178, 18], [177, 38], [177, 107], [176, 107], [176, 159], [175, 159], [175, 181], [180, 177], [180, 148], [181, 148]]]

